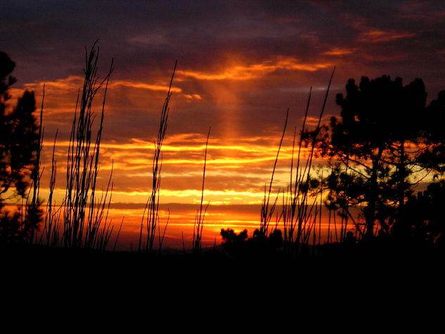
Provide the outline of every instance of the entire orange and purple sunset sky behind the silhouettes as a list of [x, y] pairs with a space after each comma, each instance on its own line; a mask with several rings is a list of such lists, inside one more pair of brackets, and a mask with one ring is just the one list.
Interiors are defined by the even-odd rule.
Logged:
[[[428, 101], [445, 89], [444, 1], [13, 1], [0, 4], [0, 51], [16, 63], [16, 98], [32, 89], [41, 103], [45, 150], [42, 197], [58, 129], [59, 193], [85, 47], [98, 39], [101, 75], [112, 58], [105, 106], [101, 185], [111, 161], [112, 221], [136, 240], [151, 191], [153, 139], [175, 60], [178, 66], [163, 146], [162, 213], [167, 243], [191, 238], [205, 139], [205, 241], [221, 228], [250, 232], [290, 109], [276, 186], [288, 181], [294, 127], [312, 86], [316, 120], [333, 69], [325, 117], [339, 115], [335, 94], [361, 76], [424, 80]], [[98, 109], [99, 111], [99, 109]], [[422, 115], [419, 115], [422, 117]], [[161, 217], [161, 220], [164, 216]]]

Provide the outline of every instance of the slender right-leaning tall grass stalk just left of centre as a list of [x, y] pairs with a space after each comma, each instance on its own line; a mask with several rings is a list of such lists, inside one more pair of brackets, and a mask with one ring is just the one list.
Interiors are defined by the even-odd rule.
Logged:
[[162, 143], [165, 139], [165, 133], [167, 131], [167, 120], [169, 117], [169, 101], [172, 96], [172, 84], [174, 73], [176, 72], [176, 65], [178, 61], [174, 63], [174, 69], [172, 73], [172, 77], [170, 79], [169, 89], [167, 91], [167, 97], [165, 98], [164, 105], [161, 110], [159, 131], [157, 132], [157, 139], [155, 141], [155, 153], [153, 155], [153, 165], [152, 165], [152, 189], [151, 195], [147, 200], [146, 207], [144, 208], [142, 219], [141, 219], [141, 229], [139, 231], [139, 243], [138, 243], [138, 251], [142, 251], [142, 236], [143, 236], [143, 224], [144, 219], [146, 219], [146, 243], [145, 243], [145, 251], [152, 252], [153, 246], [156, 239], [156, 233], [158, 233], [159, 238], [159, 251], [162, 247], [162, 240], [165, 236], [165, 231], [167, 229], [167, 223], [165, 225], [164, 232], [162, 233], [162, 237], [160, 236], [159, 231], [159, 200], [160, 200], [160, 181], [161, 181], [161, 170], [162, 170]]

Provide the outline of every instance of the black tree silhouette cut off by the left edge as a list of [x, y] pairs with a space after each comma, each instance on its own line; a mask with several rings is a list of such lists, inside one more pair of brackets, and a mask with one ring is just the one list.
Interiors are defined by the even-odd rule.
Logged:
[[25, 198], [32, 184], [41, 136], [34, 117], [36, 108], [32, 91], [25, 91], [18, 98], [17, 105], [8, 111], [11, 98], [8, 89], [16, 81], [11, 76], [14, 68], [11, 58], [0, 52], [0, 239], [3, 241], [27, 238], [37, 228], [40, 219], [39, 212], [34, 212], [33, 219], [20, 221], [17, 212], [9, 215], [4, 210], [7, 199]]

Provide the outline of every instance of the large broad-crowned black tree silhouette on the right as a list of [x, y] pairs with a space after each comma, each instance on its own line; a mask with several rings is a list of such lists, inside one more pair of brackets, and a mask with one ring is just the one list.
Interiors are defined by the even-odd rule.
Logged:
[[[326, 204], [344, 212], [361, 207], [365, 229], [356, 228], [369, 239], [375, 227], [381, 235], [394, 224], [409, 224], [404, 210], [419, 181], [415, 174], [425, 172], [426, 161], [439, 169], [439, 160], [427, 159], [425, 154], [437, 153], [428, 149], [429, 142], [444, 142], [441, 131], [434, 129], [434, 120], [445, 115], [444, 101], [427, 107], [422, 79], [404, 85], [399, 77], [361, 77], [359, 85], [349, 79], [345, 88], [346, 96], [336, 96], [340, 117], [331, 117], [317, 139], [323, 155], [337, 161], [327, 178]], [[314, 132], [308, 138], [314, 139]]]

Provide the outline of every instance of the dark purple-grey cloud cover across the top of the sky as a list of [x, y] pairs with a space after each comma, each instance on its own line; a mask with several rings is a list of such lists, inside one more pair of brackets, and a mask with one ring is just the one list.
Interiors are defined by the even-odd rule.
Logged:
[[[445, 82], [444, 17], [443, 1], [3, 1], [0, 45], [17, 63], [18, 85], [82, 75], [84, 46], [96, 39], [103, 71], [115, 58], [112, 79], [150, 84], [166, 84], [175, 59], [179, 70], [210, 75], [278, 57], [330, 64], [314, 71], [281, 68], [235, 83], [176, 77], [182, 91], [174, 96], [176, 113], [193, 114], [207, 127], [223, 122], [223, 110], [237, 103], [236, 117], [226, 121], [239, 122], [240, 133], [250, 135], [276, 126], [280, 110], [304, 104], [309, 86], [325, 86], [334, 65], [333, 94], [349, 77], [388, 74], [422, 77], [435, 96]], [[152, 98], [145, 108], [134, 91], [110, 96], [113, 108], [133, 115], [122, 136], [143, 132], [136, 127], [145, 124], [143, 110], [155, 113], [162, 105], [162, 94], [140, 93]], [[202, 100], [186, 101], [193, 94]], [[335, 113], [332, 101], [329, 108]], [[115, 127], [119, 120], [109, 122]], [[197, 127], [179, 116], [171, 129]]]

